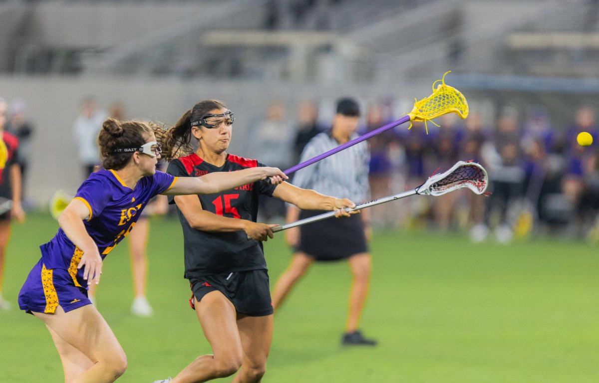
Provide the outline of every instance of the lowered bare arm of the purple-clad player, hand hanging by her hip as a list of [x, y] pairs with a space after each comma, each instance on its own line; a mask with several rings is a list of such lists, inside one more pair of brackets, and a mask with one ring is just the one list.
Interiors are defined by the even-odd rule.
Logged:
[[102, 257], [100, 257], [98, 246], [93, 242], [83, 224], [83, 220], [87, 219], [90, 214], [85, 203], [79, 199], [73, 199], [58, 217], [58, 224], [71, 242], [83, 251], [81, 261], [77, 265], [77, 269], [84, 267], [83, 279], [87, 279], [87, 284], [90, 284], [92, 280], [98, 284], [102, 273]]

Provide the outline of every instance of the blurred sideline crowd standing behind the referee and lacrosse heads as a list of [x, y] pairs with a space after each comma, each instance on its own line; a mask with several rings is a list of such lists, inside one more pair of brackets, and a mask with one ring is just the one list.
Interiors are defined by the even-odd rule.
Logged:
[[[362, 134], [401, 117], [393, 102], [371, 104], [366, 110]], [[329, 128], [318, 111], [315, 102], [300, 102], [294, 118], [280, 102], [268, 106], [255, 126], [260, 137], [256, 156], [282, 169], [295, 165], [306, 142]], [[489, 120], [485, 123], [476, 111], [465, 120], [448, 114], [436, 120], [438, 127], [428, 123], [428, 134], [423, 123], [414, 123], [412, 129], [403, 124], [370, 138], [373, 199], [419, 186], [458, 160], [485, 166], [491, 193], [483, 197], [459, 190], [374, 206], [373, 226], [460, 230], [474, 242], [505, 243], [536, 233], [599, 241], [599, 129], [594, 111], [580, 107], [568, 126], [553, 126], [541, 105], [525, 115], [506, 107]], [[595, 143], [578, 145], [579, 132], [591, 133]], [[282, 206], [266, 208], [267, 219], [283, 214]]]

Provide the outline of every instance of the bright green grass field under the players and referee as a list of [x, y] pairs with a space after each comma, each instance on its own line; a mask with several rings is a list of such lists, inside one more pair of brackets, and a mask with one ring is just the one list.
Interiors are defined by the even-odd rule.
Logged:
[[[0, 311], [0, 381], [60, 382], [62, 368], [40, 320], [16, 308], [17, 293], [56, 221], [29, 215], [14, 224]], [[187, 299], [177, 220], [152, 221], [148, 297], [152, 318], [129, 314], [128, 249], [107, 258], [97, 300], [125, 349], [119, 382], [176, 375], [210, 352]], [[291, 252], [279, 235], [265, 245], [271, 283]], [[275, 318], [264, 382], [599, 381], [597, 246], [537, 239], [472, 245], [462, 235], [377, 233], [362, 319], [376, 348], [342, 348], [349, 269], [316, 265]], [[229, 382], [232, 379], [221, 379]]]

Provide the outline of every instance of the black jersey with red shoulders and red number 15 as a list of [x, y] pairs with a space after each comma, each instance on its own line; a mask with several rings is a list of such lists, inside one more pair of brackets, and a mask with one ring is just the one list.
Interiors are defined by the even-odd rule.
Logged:
[[[257, 160], [228, 154], [223, 166], [217, 167], [205, 162], [197, 154], [173, 160], [167, 172], [176, 177], [199, 177], [211, 172], [232, 172], [246, 168], [265, 166]], [[229, 218], [256, 221], [258, 196], [271, 196], [276, 185], [264, 181], [236, 187], [217, 194], [199, 194], [202, 209]], [[174, 198], [169, 197], [174, 203]], [[266, 269], [262, 242], [248, 240], [243, 231], [202, 232], [192, 229], [177, 208], [185, 253], [185, 278], [214, 275], [226, 272]]]

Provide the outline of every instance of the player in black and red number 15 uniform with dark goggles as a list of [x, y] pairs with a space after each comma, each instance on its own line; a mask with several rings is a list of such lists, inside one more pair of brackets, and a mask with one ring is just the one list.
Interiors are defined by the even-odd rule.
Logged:
[[[226, 151], [233, 121], [233, 113], [221, 101], [194, 105], [168, 130], [164, 156], [172, 161], [167, 172], [182, 179], [262, 166]], [[190, 146], [192, 139], [198, 142], [195, 153]], [[181, 151], [190, 154], [176, 159]], [[158, 382], [205, 382], [237, 370], [235, 383], [261, 381], [273, 335], [273, 306], [261, 241], [273, 238], [271, 228], [276, 225], [256, 222], [259, 194], [301, 209], [337, 211], [337, 217], [349, 215], [342, 208], [355, 206], [349, 199], [289, 183], [247, 183], [210, 195], [171, 198], [183, 228], [190, 305], [213, 354], [195, 358], [172, 381]]]

